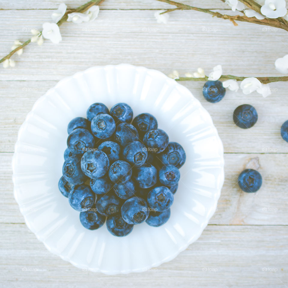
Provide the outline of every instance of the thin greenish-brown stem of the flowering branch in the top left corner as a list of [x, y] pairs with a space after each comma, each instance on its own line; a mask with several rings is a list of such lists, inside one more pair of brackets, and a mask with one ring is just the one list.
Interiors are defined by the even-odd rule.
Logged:
[[[73, 10], [69, 10], [67, 11], [63, 17], [57, 22], [57, 25], [60, 27], [65, 21], [67, 21], [68, 19], [68, 14], [69, 13], [73, 13], [73, 12], [85, 12], [86, 10], [88, 10], [90, 7], [94, 6], [94, 5], [100, 5], [102, 2], [104, 2], [105, 0], [92, 0], [89, 1], [87, 3], [85, 3], [82, 6], [79, 6], [76, 9]], [[42, 35], [42, 31], [40, 32], [39, 36]], [[13, 49], [9, 54], [7, 54], [6, 56], [4, 56], [2, 59], [0, 59], [0, 63], [4, 62], [6, 59], [10, 59], [10, 57], [15, 54], [18, 50], [22, 49], [23, 47], [27, 46], [29, 43], [31, 42], [31, 38], [28, 39], [27, 41], [25, 41], [23, 44], [21, 44], [20, 46], [16, 47], [15, 49]]]

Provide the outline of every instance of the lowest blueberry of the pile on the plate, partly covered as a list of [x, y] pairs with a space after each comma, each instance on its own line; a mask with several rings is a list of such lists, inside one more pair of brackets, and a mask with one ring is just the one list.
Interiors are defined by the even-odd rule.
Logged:
[[133, 225], [126, 223], [121, 215], [108, 216], [106, 225], [108, 231], [118, 237], [128, 235], [133, 229]]

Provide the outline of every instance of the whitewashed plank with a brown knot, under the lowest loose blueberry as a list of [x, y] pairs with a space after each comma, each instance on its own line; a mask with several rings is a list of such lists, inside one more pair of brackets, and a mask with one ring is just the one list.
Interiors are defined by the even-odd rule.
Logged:
[[[23, 217], [12, 192], [11, 158], [12, 153], [0, 153], [2, 164], [0, 168], [2, 183], [0, 186], [0, 221], [2, 223], [23, 223]], [[216, 225], [288, 225], [288, 155], [225, 154], [224, 160], [225, 182], [217, 211], [209, 223]], [[238, 175], [246, 167], [257, 168], [262, 174], [263, 184], [257, 193], [245, 193], [237, 184]], [[178, 192], [181, 193], [181, 190]], [[175, 199], [177, 201], [177, 197]]]

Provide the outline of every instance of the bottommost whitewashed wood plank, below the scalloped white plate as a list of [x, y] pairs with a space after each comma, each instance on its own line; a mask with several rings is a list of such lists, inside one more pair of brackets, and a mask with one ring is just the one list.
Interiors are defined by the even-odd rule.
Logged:
[[174, 260], [144, 273], [82, 271], [49, 253], [24, 224], [0, 225], [1, 287], [273, 287], [288, 285], [287, 227], [209, 225]]

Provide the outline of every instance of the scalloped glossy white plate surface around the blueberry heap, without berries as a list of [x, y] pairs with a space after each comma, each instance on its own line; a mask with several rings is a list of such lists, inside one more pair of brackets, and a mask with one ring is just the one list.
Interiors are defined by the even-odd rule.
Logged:
[[[169, 221], [145, 222], [126, 237], [90, 231], [58, 190], [67, 125], [95, 102], [128, 103], [149, 112], [187, 160]], [[49, 251], [76, 267], [105, 274], [147, 271], [196, 241], [214, 214], [224, 181], [223, 146], [208, 112], [163, 73], [128, 64], [92, 67], [61, 80], [36, 101], [21, 126], [12, 160], [14, 196], [29, 229]]]

